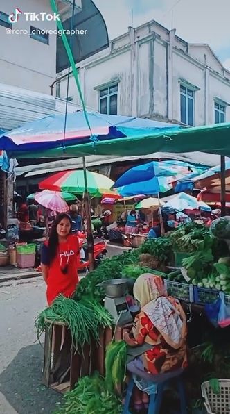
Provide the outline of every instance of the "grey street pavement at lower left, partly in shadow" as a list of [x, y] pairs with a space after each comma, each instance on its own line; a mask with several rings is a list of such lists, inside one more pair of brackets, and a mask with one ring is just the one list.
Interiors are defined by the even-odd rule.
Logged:
[[[108, 255], [121, 254], [108, 246]], [[41, 277], [0, 283], [0, 414], [52, 414], [62, 395], [41, 384], [35, 317], [46, 307]]]

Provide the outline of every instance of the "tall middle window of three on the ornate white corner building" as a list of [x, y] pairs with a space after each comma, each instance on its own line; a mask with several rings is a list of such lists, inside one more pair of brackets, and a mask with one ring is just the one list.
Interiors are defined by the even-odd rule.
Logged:
[[194, 126], [194, 90], [180, 86], [181, 94], [181, 122]]

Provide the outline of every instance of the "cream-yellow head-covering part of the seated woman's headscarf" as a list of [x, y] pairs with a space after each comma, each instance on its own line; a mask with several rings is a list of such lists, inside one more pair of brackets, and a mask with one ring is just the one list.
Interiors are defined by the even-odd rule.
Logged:
[[166, 295], [166, 288], [159, 276], [143, 273], [134, 283], [134, 297], [139, 301], [141, 308], [159, 296]]

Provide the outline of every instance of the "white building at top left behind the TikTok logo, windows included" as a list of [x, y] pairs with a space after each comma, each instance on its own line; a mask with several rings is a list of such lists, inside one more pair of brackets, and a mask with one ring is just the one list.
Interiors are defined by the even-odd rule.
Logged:
[[[61, 19], [71, 13], [73, 0], [57, 0]], [[76, 5], [80, 0], [76, 1]], [[18, 21], [10, 23], [8, 17], [15, 13], [15, 6], [22, 13]], [[34, 13], [37, 19], [34, 19]], [[46, 15], [40, 15], [46, 13]], [[56, 77], [57, 35], [45, 33], [57, 28], [49, 0], [18, 0], [17, 3], [0, 2], [0, 82], [44, 94], [51, 93]], [[48, 20], [46, 19], [46, 16]], [[44, 19], [44, 20], [43, 20]], [[9, 33], [12, 29], [12, 33]]]

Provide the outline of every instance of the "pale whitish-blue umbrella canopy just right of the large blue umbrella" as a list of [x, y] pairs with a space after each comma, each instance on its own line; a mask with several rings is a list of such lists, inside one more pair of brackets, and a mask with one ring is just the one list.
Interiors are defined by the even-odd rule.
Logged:
[[204, 210], [211, 211], [211, 208], [202, 201], [197, 201], [197, 199], [191, 195], [181, 192], [180, 194], [172, 197], [168, 203], [166, 203], [163, 208], [170, 207], [175, 208], [175, 210]]

